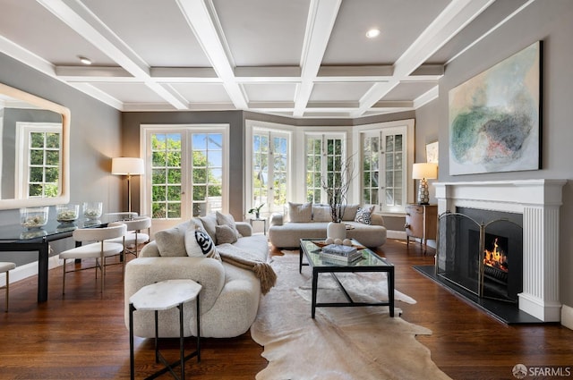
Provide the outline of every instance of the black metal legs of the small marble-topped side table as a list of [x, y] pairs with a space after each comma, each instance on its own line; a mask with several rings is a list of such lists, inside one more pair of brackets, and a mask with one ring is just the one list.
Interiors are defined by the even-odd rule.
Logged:
[[[180, 303], [179, 305], [177, 305], [176, 308], [179, 309], [179, 360], [174, 361], [173, 363], [168, 363], [167, 360], [163, 357], [163, 355], [161, 354], [161, 352], [159, 352], [159, 347], [158, 347], [158, 310], [155, 310], [155, 362], [158, 363], [159, 361], [161, 361], [161, 363], [163, 363], [163, 365], [165, 366], [164, 368], [158, 370], [156, 373], [148, 376], [145, 378], [145, 380], [150, 380], [150, 379], [154, 379], [157, 378], [158, 376], [161, 376], [165, 373], [167, 373], [167, 371], [171, 372], [171, 375], [173, 375], [173, 377], [175, 377], [175, 379], [180, 379], [180, 380], [184, 380], [185, 378], [185, 361], [187, 361], [188, 359], [191, 359], [193, 357], [197, 357], [197, 362], [199, 363], [201, 361], [201, 313], [200, 313], [200, 306], [199, 306], [199, 294], [197, 294], [197, 347], [194, 351], [192, 351], [191, 353], [187, 354], [187, 356], [185, 356], [185, 352], [184, 352], [184, 317], [183, 317], [183, 306], [184, 306], [184, 302]], [[129, 359], [130, 359], [130, 378], [133, 380], [135, 377], [135, 373], [134, 373], [134, 356], [133, 356], [133, 311], [135, 311], [136, 308], [133, 306], [133, 303], [129, 304]], [[174, 368], [177, 366], [181, 366], [181, 377], [178, 377], [175, 372], [174, 372]]]

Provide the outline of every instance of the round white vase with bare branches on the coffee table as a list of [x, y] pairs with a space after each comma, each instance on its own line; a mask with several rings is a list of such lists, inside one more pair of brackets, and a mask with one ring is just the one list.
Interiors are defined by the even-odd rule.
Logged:
[[352, 156], [346, 160], [337, 161], [333, 172], [326, 177], [321, 177], [321, 188], [326, 191], [332, 218], [332, 222], [327, 226], [327, 238], [340, 240], [346, 238], [346, 224], [342, 223], [342, 216], [346, 211], [346, 196], [353, 178]]

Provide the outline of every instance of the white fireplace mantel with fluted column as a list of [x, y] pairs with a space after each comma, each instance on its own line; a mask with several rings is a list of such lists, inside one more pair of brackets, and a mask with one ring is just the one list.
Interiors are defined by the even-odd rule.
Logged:
[[559, 210], [565, 180], [433, 183], [438, 213], [456, 207], [523, 214], [523, 292], [519, 309], [544, 321], [560, 321]]

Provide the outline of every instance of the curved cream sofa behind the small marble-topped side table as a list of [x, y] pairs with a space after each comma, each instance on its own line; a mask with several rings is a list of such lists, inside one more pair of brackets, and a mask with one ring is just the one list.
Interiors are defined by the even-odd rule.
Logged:
[[[203, 219], [208, 219], [207, 221]], [[201, 217], [205, 230], [213, 233], [211, 216]], [[195, 223], [197, 219], [192, 220]], [[244, 334], [249, 330], [259, 308], [261, 283], [251, 270], [227, 264], [216, 258], [192, 258], [177, 256], [175, 250], [183, 243], [183, 236], [191, 221], [170, 229], [169, 239], [174, 243], [170, 252], [158, 249], [156, 241], [151, 241], [143, 249], [139, 258], [131, 260], [125, 266], [124, 280], [124, 320], [129, 328], [129, 298], [141, 287], [169, 279], [192, 279], [201, 283], [201, 336], [229, 338]], [[206, 225], [210, 224], [210, 225]], [[232, 245], [236, 249], [248, 251], [266, 260], [269, 243], [266, 236], [252, 234], [248, 223], [237, 222], [236, 229], [242, 237]], [[209, 228], [211, 227], [211, 228]], [[178, 243], [177, 241], [181, 241]], [[196, 336], [195, 303], [184, 305], [184, 335]], [[179, 336], [179, 312], [177, 308], [159, 311], [158, 332], [160, 337]], [[133, 313], [133, 334], [145, 338], [155, 336], [154, 312], [136, 310]]]

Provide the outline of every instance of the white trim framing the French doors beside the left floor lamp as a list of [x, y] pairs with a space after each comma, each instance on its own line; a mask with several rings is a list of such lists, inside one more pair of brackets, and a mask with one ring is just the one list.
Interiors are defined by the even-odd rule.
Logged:
[[[140, 156], [144, 158], [146, 173], [151, 165], [151, 156], [147, 151], [147, 144], [149, 143], [149, 136], [151, 133], [165, 133], [165, 132], [187, 132], [187, 131], [201, 131], [201, 132], [215, 132], [223, 134], [223, 212], [229, 212], [229, 156], [230, 156], [230, 125], [227, 123], [213, 123], [213, 124], [141, 124], [140, 125]], [[182, 148], [186, 146], [186, 141], [182, 142]], [[184, 156], [187, 156], [186, 154]], [[182, 156], [182, 160], [185, 157]], [[183, 163], [182, 163], [183, 165]], [[150, 209], [150, 193], [151, 188], [151, 175], [145, 175], [143, 182], [144, 185], [140, 186], [141, 201], [141, 214], [151, 215]], [[187, 182], [190, 183], [190, 182]], [[187, 189], [182, 189], [187, 192]], [[148, 198], [149, 197], [149, 198]]]

